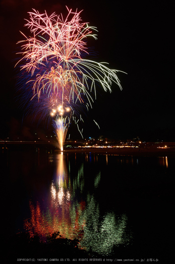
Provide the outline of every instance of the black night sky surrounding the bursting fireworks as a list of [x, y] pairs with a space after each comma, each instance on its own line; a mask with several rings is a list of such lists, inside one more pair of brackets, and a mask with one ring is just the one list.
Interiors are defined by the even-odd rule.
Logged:
[[33, 133], [30, 122], [22, 123], [23, 111], [15, 100], [16, 43], [22, 39], [20, 30], [29, 34], [24, 28], [27, 12], [34, 8], [46, 10], [48, 15], [66, 15], [66, 5], [83, 10], [82, 20], [97, 27], [98, 39], [88, 42], [97, 51], [96, 60], [127, 73], [118, 75], [122, 91], [116, 85], [112, 85], [112, 93], [99, 91], [84, 123], [85, 136], [174, 141], [173, 1], [1, 1], [0, 138], [18, 135], [20, 130]]

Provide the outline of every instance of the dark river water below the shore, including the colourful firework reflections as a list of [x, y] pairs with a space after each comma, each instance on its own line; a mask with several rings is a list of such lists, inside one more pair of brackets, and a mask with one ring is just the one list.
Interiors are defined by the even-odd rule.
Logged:
[[2, 151], [2, 263], [173, 262], [174, 162]]

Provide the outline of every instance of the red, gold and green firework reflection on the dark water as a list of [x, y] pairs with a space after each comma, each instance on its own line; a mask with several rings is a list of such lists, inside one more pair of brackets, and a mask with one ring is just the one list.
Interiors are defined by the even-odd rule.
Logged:
[[[38, 235], [40, 241], [46, 242], [53, 233], [60, 232], [62, 238], [78, 239], [80, 248], [105, 255], [113, 246], [128, 243], [126, 215], [117, 220], [113, 212], [101, 216], [93, 194], [87, 192], [82, 198], [85, 187], [83, 163], [72, 178], [71, 165], [68, 165], [63, 152], [58, 154], [56, 173], [46, 199], [35, 205], [30, 202], [31, 217], [24, 222], [30, 237]], [[100, 178], [98, 172], [94, 177], [94, 190], [98, 188]]]

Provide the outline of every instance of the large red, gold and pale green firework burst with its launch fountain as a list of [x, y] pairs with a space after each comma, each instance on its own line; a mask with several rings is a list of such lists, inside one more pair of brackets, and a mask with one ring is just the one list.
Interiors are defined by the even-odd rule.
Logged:
[[74, 115], [81, 115], [84, 107], [92, 108], [96, 86], [111, 92], [114, 82], [122, 89], [116, 75], [118, 70], [109, 69], [106, 63], [84, 59], [88, 55], [86, 39], [88, 36], [96, 39], [92, 30], [97, 30], [81, 22], [81, 12], [67, 10], [64, 20], [62, 15], [53, 13], [48, 17], [46, 12], [39, 14], [33, 9], [25, 24], [32, 37], [22, 33], [25, 40], [18, 42], [22, 55], [18, 63], [22, 62], [22, 71], [30, 73], [27, 83], [33, 92], [32, 105], [39, 102], [40, 111], [55, 118], [54, 128], [62, 150], [71, 118], [76, 120]]

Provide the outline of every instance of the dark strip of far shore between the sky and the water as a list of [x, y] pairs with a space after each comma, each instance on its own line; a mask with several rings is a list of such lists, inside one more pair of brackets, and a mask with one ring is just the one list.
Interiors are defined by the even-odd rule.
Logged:
[[[158, 145], [158, 146], [157, 146]], [[62, 152], [56, 142], [45, 142], [45, 141], [0, 141], [2, 153], [8, 150], [25, 150], [30, 151], [49, 151], [52, 149], [53, 152]], [[164, 147], [166, 146], [166, 147]], [[63, 153], [94, 153], [94, 154], [113, 154], [121, 156], [161, 156], [161, 157], [175, 157], [175, 142], [163, 142], [163, 143], [152, 143], [148, 142], [145, 144], [135, 144], [135, 146], [119, 146], [119, 147], [85, 147], [74, 145], [72, 147], [64, 147]]]

